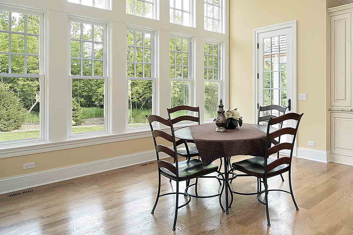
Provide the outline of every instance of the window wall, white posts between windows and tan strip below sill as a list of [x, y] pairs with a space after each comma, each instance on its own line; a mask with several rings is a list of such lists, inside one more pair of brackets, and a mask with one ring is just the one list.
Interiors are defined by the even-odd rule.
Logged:
[[[47, 11], [49, 55], [47, 74], [49, 84], [49, 141], [65, 141], [67, 136], [68, 117], [68, 15], [93, 17], [112, 22], [112, 100], [113, 100], [113, 134], [125, 133], [125, 113], [127, 97], [126, 81], [126, 26], [148, 27], [158, 31], [160, 51], [159, 57], [159, 115], [167, 118], [166, 108], [169, 107], [170, 80], [169, 80], [169, 33], [181, 33], [191, 36], [196, 43], [196, 84], [197, 95], [195, 104], [203, 112], [203, 43], [205, 39], [214, 39], [225, 43], [226, 58], [228, 58], [228, 35], [214, 33], [203, 29], [203, 0], [196, 1], [196, 28], [185, 27], [169, 23], [167, 0], [160, 0], [160, 20], [146, 19], [125, 14], [125, 0], [112, 0], [113, 11], [101, 10], [78, 4], [68, 3], [67, 0], [2, 0], [12, 4], [22, 4], [37, 7]], [[228, 1], [227, 1], [228, 2]], [[227, 3], [228, 4], [228, 3]], [[1, 5], [1, 3], [0, 3]], [[227, 7], [228, 8], [228, 7]], [[228, 8], [229, 9], [229, 8]], [[228, 17], [228, 12], [227, 12]], [[227, 21], [227, 19], [226, 19]], [[228, 21], [227, 21], [228, 22]], [[228, 23], [227, 23], [228, 25]], [[228, 32], [228, 30], [227, 30]], [[167, 52], [167, 53], [165, 53]], [[228, 61], [225, 61], [228, 67]], [[228, 70], [226, 70], [228, 77]], [[124, 97], [124, 98], [122, 98]], [[226, 98], [227, 99], [227, 98]], [[88, 147], [79, 147], [66, 150], [51, 151], [24, 156], [15, 156], [0, 159], [0, 179], [15, 175], [33, 173], [70, 166], [79, 163], [107, 159], [110, 157], [140, 153], [154, 149], [151, 137], [135, 140], [119, 141], [107, 144], [97, 144]], [[1, 157], [1, 156], [0, 156]], [[23, 170], [23, 164], [35, 162], [35, 169]]]

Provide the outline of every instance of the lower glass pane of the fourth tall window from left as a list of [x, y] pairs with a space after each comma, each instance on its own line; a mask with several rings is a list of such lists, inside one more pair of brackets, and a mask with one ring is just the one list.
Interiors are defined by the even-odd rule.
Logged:
[[[179, 105], [189, 105], [189, 82], [171, 81], [170, 82], [170, 107]], [[189, 115], [189, 111], [181, 110], [170, 115], [171, 118]]]

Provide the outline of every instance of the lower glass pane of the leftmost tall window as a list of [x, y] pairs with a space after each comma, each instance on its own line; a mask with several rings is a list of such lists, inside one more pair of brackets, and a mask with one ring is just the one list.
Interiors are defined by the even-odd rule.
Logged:
[[40, 137], [38, 78], [0, 78], [0, 142]]

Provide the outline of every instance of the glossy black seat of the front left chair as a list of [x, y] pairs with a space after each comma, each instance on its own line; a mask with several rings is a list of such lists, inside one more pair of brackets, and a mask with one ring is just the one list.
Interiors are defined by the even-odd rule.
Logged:
[[[173, 164], [175, 166], [175, 163]], [[199, 175], [206, 175], [216, 172], [218, 169], [217, 165], [207, 165], [205, 166], [201, 160], [191, 159], [190, 161], [180, 161], [178, 162], [179, 167], [179, 180], [186, 180], [196, 178]], [[175, 174], [169, 171], [167, 168], [161, 167], [161, 173], [167, 174], [169, 177], [176, 178]]]

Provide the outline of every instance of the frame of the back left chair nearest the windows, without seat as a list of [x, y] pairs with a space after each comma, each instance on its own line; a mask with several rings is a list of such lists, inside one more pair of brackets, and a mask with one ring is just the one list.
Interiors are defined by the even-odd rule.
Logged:
[[[181, 111], [181, 110], [187, 110], [187, 111], [191, 111], [191, 112], [197, 112], [197, 117], [194, 117], [194, 116], [190, 116], [190, 115], [185, 115], [185, 116], [179, 116], [179, 117], [176, 117], [176, 118], [171, 118], [170, 117], [170, 114], [174, 113], [174, 112], [178, 112], [178, 111]], [[172, 123], [173, 124], [176, 124], [178, 122], [181, 122], [181, 121], [191, 121], [191, 122], [197, 122], [199, 125], [200, 125], [200, 107], [197, 106], [197, 107], [192, 107], [192, 106], [188, 106], [188, 105], [179, 105], [179, 106], [175, 106], [175, 107], [172, 107], [170, 109], [167, 109], [167, 112], [168, 112], [168, 117], [170, 120], [172, 120]], [[190, 155], [190, 151], [189, 151], [189, 146], [187, 145], [187, 143], [193, 143], [193, 142], [188, 142], [187, 140], [184, 140], [184, 144], [185, 144], [185, 148], [186, 148], [186, 152], [187, 152], [187, 156], [184, 156], [184, 155], [180, 155], [178, 153], [179, 156], [183, 156], [183, 157], [187, 157], [187, 159], [190, 160], [190, 157], [193, 157], [193, 155]], [[198, 155], [195, 155], [195, 156], [198, 156]], [[198, 159], [200, 160], [200, 156], [198, 156]], [[174, 162], [175, 163], [175, 162]], [[221, 167], [222, 167], [222, 158], [221, 158], [221, 164], [220, 164], [220, 167], [218, 168], [219, 171], [221, 171]], [[204, 176], [204, 177], [199, 177], [199, 178], [216, 178], [219, 182], [220, 185], [222, 185], [221, 183], [221, 180], [218, 179], [217, 177], [215, 176]], [[170, 179], [169, 182], [171, 182], [172, 180]], [[197, 192], [197, 183], [198, 183], [198, 178], [196, 178], [196, 182], [195, 184], [192, 184], [190, 185], [190, 181], [187, 181], [186, 182], [186, 190], [191, 187], [191, 186], [194, 186], [195, 185], [195, 194], [196, 194], [196, 197], [198, 196], [198, 192]], [[190, 185], [190, 186], [189, 186]], [[202, 197], [201, 197], [202, 198]]]

